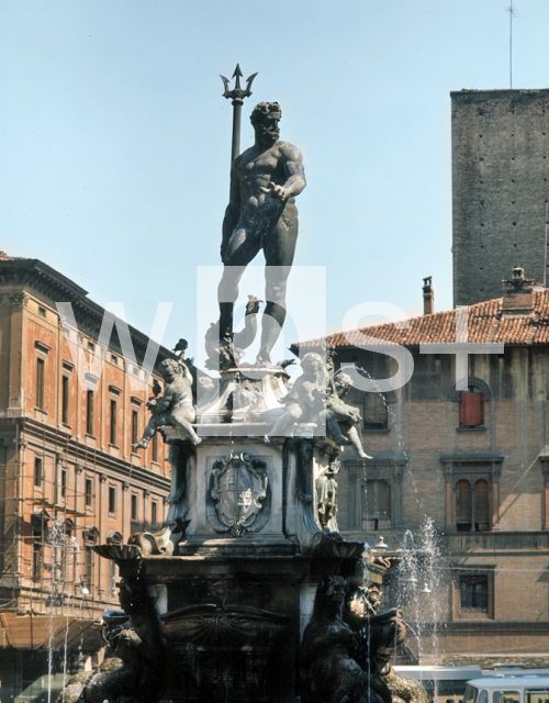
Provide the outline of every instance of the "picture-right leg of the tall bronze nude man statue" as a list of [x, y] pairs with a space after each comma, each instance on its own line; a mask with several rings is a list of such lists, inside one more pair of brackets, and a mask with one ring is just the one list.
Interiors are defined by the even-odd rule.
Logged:
[[270, 354], [285, 320], [285, 290], [298, 239], [298, 209], [289, 203], [274, 227], [265, 235], [265, 299], [261, 347], [257, 360], [270, 362]]

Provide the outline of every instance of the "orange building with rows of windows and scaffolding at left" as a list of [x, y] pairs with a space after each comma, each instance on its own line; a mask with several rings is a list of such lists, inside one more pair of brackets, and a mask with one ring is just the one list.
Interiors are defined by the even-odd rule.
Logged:
[[[57, 301], [72, 304], [76, 327], [61, 323]], [[125, 362], [115, 331], [98, 349], [103, 313], [42, 261], [0, 260], [2, 694], [47, 672], [49, 646], [67, 654], [69, 671], [98, 652], [101, 614], [117, 594], [115, 566], [93, 546], [164, 522], [161, 438], [131, 447], [153, 395], [139, 368], [148, 338], [130, 327], [137, 365]], [[168, 356], [160, 348], [157, 362]]]

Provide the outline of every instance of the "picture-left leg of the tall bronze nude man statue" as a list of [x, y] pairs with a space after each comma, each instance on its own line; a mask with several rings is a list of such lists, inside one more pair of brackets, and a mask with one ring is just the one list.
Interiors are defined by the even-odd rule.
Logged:
[[240, 221], [228, 241], [225, 268], [217, 288], [220, 301], [220, 339], [233, 336], [233, 310], [238, 298], [238, 283], [246, 266], [254, 259], [260, 248], [261, 237], [257, 230]]

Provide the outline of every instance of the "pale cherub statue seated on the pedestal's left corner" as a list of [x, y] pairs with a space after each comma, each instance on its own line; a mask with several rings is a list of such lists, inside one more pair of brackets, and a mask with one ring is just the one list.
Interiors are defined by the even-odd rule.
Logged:
[[189, 369], [181, 360], [165, 359], [158, 367], [158, 372], [165, 381], [164, 395], [147, 401], [147, 408], [153, 414], [141, 442], [133, 444], [132, 448], [146, 449], [161, 425], [172, 425], [192, 444], [200, 444], [202, 440], [192, 426], [197, 415], [192, 403], [192, 376]]

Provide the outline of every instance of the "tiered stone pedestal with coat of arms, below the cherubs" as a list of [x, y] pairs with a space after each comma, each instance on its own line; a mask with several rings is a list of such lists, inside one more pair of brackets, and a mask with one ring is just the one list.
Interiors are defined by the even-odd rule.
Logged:
[[181, 540], [173, 537], [175, 556], [112, 556], [122, 577], [144, 580], [156, 599], [169, 651], [165, 699], [293, 703], [318, 580], [348, 561], [337, 549], [315, 549], [323, 535], [315, 480], [338, 449], [309, 426], [294, 433], [305, 436], [268, 444], [215, 436], [215, 425], [210, 432], [191, 450], [164, 429], [173, 460], [170, 520], [187, 525]]

